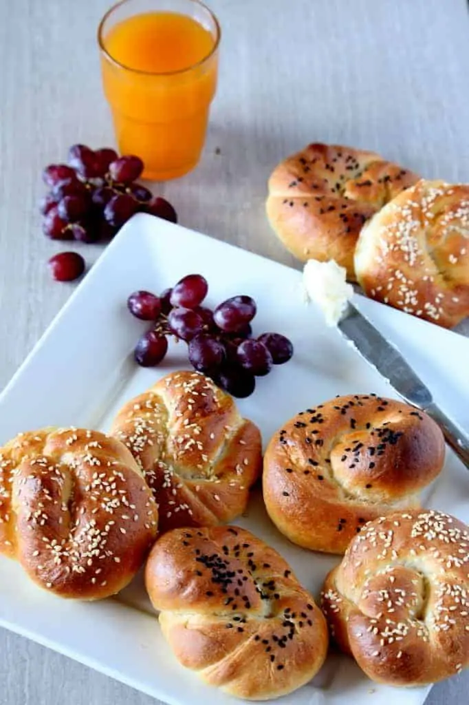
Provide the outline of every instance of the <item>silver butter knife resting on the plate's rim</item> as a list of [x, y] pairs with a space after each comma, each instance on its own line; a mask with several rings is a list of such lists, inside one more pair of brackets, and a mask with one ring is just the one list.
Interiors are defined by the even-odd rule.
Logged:
[[375, 326], [349, 303], [337, 323], [342, 336], [354, 344], [358, 353], [389, 381], [407, 403], [425, 411], [442, 429], [446, 443], [469, 469], [469, 436], [434, 403], [430, 390]]

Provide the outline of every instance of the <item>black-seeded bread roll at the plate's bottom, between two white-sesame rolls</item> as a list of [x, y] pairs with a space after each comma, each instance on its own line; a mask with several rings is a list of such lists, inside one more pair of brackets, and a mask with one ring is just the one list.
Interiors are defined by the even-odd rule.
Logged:
[[175, 656], [209, 685], [265, 700], [304, 685], [323, 665], [323, 615], [281, 556], [245, 529], [164, 534], [145, 582]]

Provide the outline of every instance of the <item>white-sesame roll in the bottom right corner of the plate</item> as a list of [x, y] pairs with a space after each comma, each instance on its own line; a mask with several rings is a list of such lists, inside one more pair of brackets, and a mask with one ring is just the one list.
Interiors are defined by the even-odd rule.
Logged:
[[369, 678], [427, 685], [469, 666], [469, 528], [433, 510], [370, 522], [327, 575], [323, 611]]

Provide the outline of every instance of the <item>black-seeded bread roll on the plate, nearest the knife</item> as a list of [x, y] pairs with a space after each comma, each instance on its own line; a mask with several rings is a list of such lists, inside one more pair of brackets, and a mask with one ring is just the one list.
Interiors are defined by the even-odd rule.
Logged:
[[265, 507], [294, 544], [344, 553], [369, 520], [419, 506], [443, 463], [442, 431], [425, 413], [375, 395], [336, 397], [270, 440]]

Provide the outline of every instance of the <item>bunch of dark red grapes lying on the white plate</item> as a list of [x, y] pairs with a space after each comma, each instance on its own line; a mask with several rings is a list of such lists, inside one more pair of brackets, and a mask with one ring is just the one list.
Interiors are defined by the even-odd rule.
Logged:
[[293, 345], [280, 333], [252, 338], [251, 321], [256, 302], [250, 296], [233, 296], [214, 310], [202, 306], [208, 283], [201, 274], [189, 274], [160, 296], [135, 291], [127, 300], [130, 313], [153, 325], [139, 338], [135, 360], [154, 367], [168, 352], [168, 336], [187, 343], [189, 362], [232, 396], [254, 392], [256, 377], [293, 355]]

